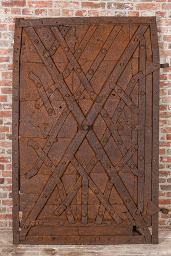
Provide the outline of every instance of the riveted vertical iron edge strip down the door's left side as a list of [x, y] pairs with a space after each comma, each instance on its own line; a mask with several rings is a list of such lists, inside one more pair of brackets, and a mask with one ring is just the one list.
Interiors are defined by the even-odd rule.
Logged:
[[15, 26], [13, 52], [13, 141], [12, 141], [12, 172], [13, 172], [13, 243], [19, 243], [19, 59], [21, 52], [22, 29]]

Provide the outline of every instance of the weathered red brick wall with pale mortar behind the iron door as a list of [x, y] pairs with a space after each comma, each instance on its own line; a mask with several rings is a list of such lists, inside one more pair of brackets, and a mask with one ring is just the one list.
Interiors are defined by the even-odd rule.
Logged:
[[[12, 226], [11, 199], [11, 79], [15, 17], [157, 17], [160, 63], [171, 62], [171, 0], [130, 1], [0, 1], [0, 227]], [[171, 67], [160, 75], [160, 205], [171, 199]], [[169, 88], [170, 87], [170, 88]], [[171, 209], [171, 207], [170, 207]], [[171, 215], [170, 215], [171, 217]], [[170, 226], [160, 214], [160, 226]]]

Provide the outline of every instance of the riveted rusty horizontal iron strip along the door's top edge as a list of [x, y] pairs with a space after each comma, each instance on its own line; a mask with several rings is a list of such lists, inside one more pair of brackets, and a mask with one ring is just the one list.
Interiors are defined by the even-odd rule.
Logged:
[[112, 24], [112, 23], [156, 23], [156, 17], [95, 17], [95, 18], [40, 18], [40, 19], [24, 19], [16, 18], [17, 27], [32, 27], [32, 26], [72, 26], [72, 25], [91, 25], [91, 24]]

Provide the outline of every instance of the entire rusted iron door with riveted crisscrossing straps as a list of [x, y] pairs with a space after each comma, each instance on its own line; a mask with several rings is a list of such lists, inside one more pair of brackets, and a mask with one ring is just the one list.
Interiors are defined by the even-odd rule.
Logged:
[[154, 17], [16, 19], [14, 243], [158, 242], [160, 67]]

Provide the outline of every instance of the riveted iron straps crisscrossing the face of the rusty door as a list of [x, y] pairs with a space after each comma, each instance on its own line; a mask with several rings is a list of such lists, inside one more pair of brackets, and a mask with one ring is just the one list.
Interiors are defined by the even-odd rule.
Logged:
[[[67, 31], [70, 27], [51, 27], [51, 31], [53, 32], [56, 40], [54, 45], [50, 48], [49, 51], [46, 50], [44, 44], [40, 40], [38, 34], [32, 27], [25, 28], [27, 35], [29, 36], [31, 42], [34, 44], [36, 51], [40, 55], [40, 58], [43, 60], [44, 65], [46, 66], [48, 72], [50, 73], [52, 80], [54, 80], [55, 84], [53, 84], [47, 91], [44, 90], [42, 83], [38, 76], [36, 76], [33, 72], [30, 73], [29, 78], [32, 79], [35, 83], [35, 86], [39, 92], [40, 99], [36, 102], [35, 108], [40, 108], [43, 104], [46, 108], [48, 115], [54, 115], [55, 111], [50, 103], [49, 97], [50, 95], [58, 89], [60, 94], [62, 94], [64, 100], [66, 101], [67, 108], [64, 109], [62, 115], [60, 115], [58, 121], [55, 124], [53, 131], [51, 132], [50, 137], [48, 137], [46, 145], [44, 145], [43, 149], [36, 143], [35, 141], [29, 139], [28, 145], [33, 147], [35, 152], [38, 154], [38, 160], [36, 161], [34, 167], [30, 172], [27, 172], [27, 178], [31, 178], [34, 176], [40, 166], [44, 164], [51, 170], [52, 175], [48, 180], [43, 192], [40, 194], [38, 201], [36, 201], [34, 208], [31, 210], [30, 214], [26, 218], [25, 222], [22, 225], [22, 229], [20, 232], [21, 240], [26, 239], [26, 235], [30, 230], [31, 226], [35, 225], [36, 218], [38, 217], [40, 211], [42, 210], [43, 206], [46, 204], [48, 198], [50, 197], [52, 191], [54, 190], [55, 186], [57, 185], [60, 197], [62, 199], [62, 204], [58, 206], [55, 210], [56, 216], [60, 216], [63, 211], [66, 211], [66, 215], [68, 218], [69, 224], [74, 224], [74, 216], [72, 214], [70, 203], [74, 199], [76, 193], [78, 193], [80, 187], [82, 186], [83, 189], [83, 204], [82, 204], [82, 224], [88, 223], [88, 214], [87, 214], [87, 199], [88, 199], [88, 186], [91, 188], [92, 192], [96, 194], [97, 198], [100, 200], [99, 206], [99, 213], [97, 214], [95, 224], [101, 224], [103, 221], [103, 216], [105, 209], [111, 214], [111, 217], [116, 222], [116, 224], [121, 224], [123, 220], [120, 218], [119, 214], [115, 209], [115, 206], [112, 206], [109, 203], [109, 196], [111, 194], [112, 186], [114, 185], [116, 190], [119, 192], [121, 198], [124, 201], [125, 206], [128, 208], [127, 217], [129, 220], [132, 220], [132, 217], [135, 221], [140, 222], [140, 228], [143, 230], [145, 239], [147, 242], [151, 241], [151, 234], [144, 221], [144, 218], [141, 215], [144, 208], [144, 201], [143, 201], [143, 194], [144, 194], [144, 148], [139, 147], [138, 145], [133, 145], [128, 151], [119, 135], [118, 130], [127, 129], [127, 130], [137, 130], [139, 131], [139, 139], [138, 144], [141, 145], [144, 141], [144, 120], [145, 120], [145, 113], [143, 108], [145, 108], [145, 75], [150, 74], [151, 72], [160, 68], [160, 64], [148, 62], [146, 61], [146, 47], [145, 47], [145, 39], [144, 33], [148, 25], [140, 25], [136, 30], [135, 34], [132, 36], [132, 39], [128, 43], [127, 47], [125, 48], [123, 55], [116, 63], [113, 71], [109, 75], [107, 82], [105, 82], [103, 88], [100, 91], [100, 94], [97, 96], [95, 91], [89, 81], [91, 80], [93, 74], [99, 67], [100, 62], [104, 59], [104, 56], [107, 54], [109, 47], [112, 45], [113, 41], [115, 40], [116, 36], [119, 34], [121, 30], [121, 26], [115, 25], [108, 36], [107, 40], [103, 44], [103, 49], [99, 52], [96, 59], [92, 63], [91, 69], [93, 72], [87, 72], [85, 75], [80, 67], [78, 62], [80, 56], [84, 48], [86, 47], [87, 43], [91, 39], [93, 33], [97, 29], [97, 25], [89, 26], [86, 35], [84, 36], [83, 40], [80, 42], [79, 46], [77, 47], [75, 53], [73, 54], [68, 46], [64, 36], [67, 34]], [[68, 66], [63, 74], [60, 74], [58, 68], [55, 66], [54, 61], [51, 58], [51, 55], [54, 54], [56, 49], [61, 46], [63, 51], [65, 52], [68, 60]], [[120, 86], [117, 85], [117, 80], [120, 78], [120, 75], [125, 70], [131, 56], [135, 52], [137, 46], [140, 47], [140, 54], [139, 54], [139, 73], [134, 75], [126, 90], [123, 91]], [[82, 49], [82, 50], [80, 50]], [[76, 74], [80, 79], [80, 86], [76, 91], [75, 95], [72, 95], [67, 84], [64, 81], [72, 69], [75, 70]], [[131, 92], [135, 87], [137, 81], [139, 80], [139, 91], [140, 91], [140, 99], [139, 99], [139, 108], [133, 103], [130, 99]], [[82, 95], [83, 91], [86, 90], [94, 101], [93, 105], [86, 115], [83, 115], [82, 110], [80, 109], [78, 103], [76, 102], [79, 99], [80, 95]], [[103, 108], [103, 105], [108, 99], [108, 96], [111, 94], [112, 90], [120, 96], [120, 102], [117, 108], [120, 111], [116, 111], [112, 118], [109, 117], [107, 111]], [[119, 119], [121, 112], [124, 106], [127, 105], [131, 110], [137, 114], [139, 114], [139, 124], [138, 125], [118, 125], [117, 120]], [[66, 152], [64, 153], [62, 159], [60, 160], [58, 166], [54, 166], [51, 160], [48, 158], [47, 153], [50, 151], [52, 144], [56, 140], [56, 136], [58, 135], [60, 128], [64, 124], [64, 121], [67, 119], [68, 114], [72, 112], [76, 121], [79, 124], [78, 132], [76, 133], [74, 139], [71, 141], [71, 144], [67, 148]], [[101, 141], [95, 135], [95, 132], [92, 130], [92, 124], [96, 120], [97, 115], [101, 114], [103, 117], [105, 124], [107, 125], [107, 129], [103, 135]], [[119, 147], [123, 158], [120, 162], [113, 166], [107, 153], [104, 151], [104, 145], [107, 143], [109, 136], [113, 137], [117, 146]], [[96, 156], [93, 156], [91, 161], [87, 164], [86, 168], [84, 169], [80, 162], [74, 156], [76, 151], [78, 150], [80, 144], [84, 138], [87, 138], [89, 144], [91, 144], [93, 150], [96, 153]], [[139, 153], [139, 160], [138, 160], [138, 167], [134, 164], [132, 160], [133, 154], [138, 151]], [[105, 187], [104, 194], [101, 193], [100, 189], [97, 187], [95, 182], [93, 182], [92, 178], [89, 176], [89, 173], [95, 166], [96, 162], [99, 161], [104, 166], [104, 169], [108, 173], [110, 180], [107, 182]], [[79, 172], [80, 177], [76, 181], [75, 185], [72, 187], [68, 195], [64, 190], [64, 186], [61, 181], [61, 177], [65, 172], [69, 163], [72, 163], [76, 170]], [[124, 185], [124, 182], [121, 180], [119, 174], [117, 173], [119, 170], [123, 168], [125, 164], [131, 167], [131, 171], [138, 177], [138, 202], [137, 205], [133, 201], [132, 197], [130, 196], [127, 188]], [[42, 222], [43, 223], [43, 222]], [[41, 223], [41, 224], [42, 224]]]

